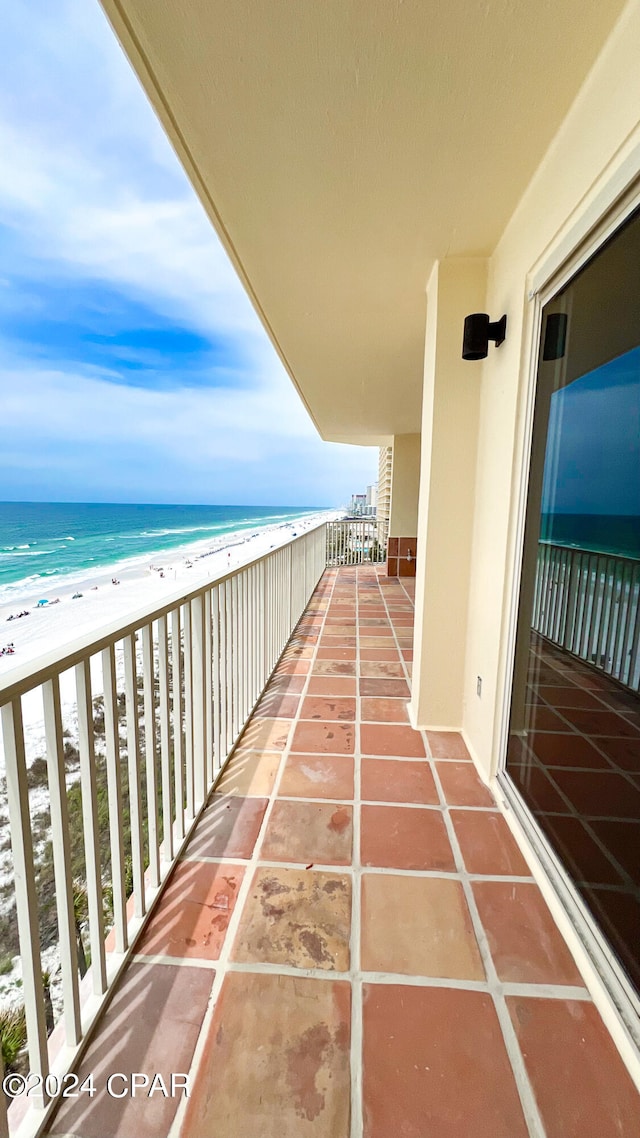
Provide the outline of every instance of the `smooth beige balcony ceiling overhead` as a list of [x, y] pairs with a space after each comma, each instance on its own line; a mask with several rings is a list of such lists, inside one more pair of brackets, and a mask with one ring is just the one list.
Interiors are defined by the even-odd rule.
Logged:
[[434, 259], [504, 224], [622, 0], [102, 0], [325, 438], [420, 426]]

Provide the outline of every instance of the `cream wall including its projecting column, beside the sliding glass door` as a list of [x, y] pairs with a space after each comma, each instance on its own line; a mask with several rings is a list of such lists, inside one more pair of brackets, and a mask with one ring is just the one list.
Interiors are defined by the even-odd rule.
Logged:
[[[633, 178], [640, 183], [640, 0], [630, 3], [493, 254], [451, 258], [427, 289], [411, 719], [462, 728], [491, 778], [510, 670], [518, 517], [526, 493], [535, 299]], [[549, 272], [547, 269], [549, 267]], [[485, 282], [486, 273], [486, 282]], [[468, 312], [507, 338], [460, 358]], [[477, 677], [482, 695], [477, 695]]]

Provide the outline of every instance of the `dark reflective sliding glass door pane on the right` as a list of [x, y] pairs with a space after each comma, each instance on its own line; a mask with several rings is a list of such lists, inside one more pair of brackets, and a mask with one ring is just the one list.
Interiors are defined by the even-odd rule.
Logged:
[[640, 213], [543, 310], [507, 774], [640, 990]]

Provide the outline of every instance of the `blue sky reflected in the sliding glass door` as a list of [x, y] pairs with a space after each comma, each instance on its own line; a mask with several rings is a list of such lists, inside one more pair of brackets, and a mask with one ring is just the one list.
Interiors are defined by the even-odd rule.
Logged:
[[552, 394], [542, 510], [640, 514], [640, 347]]

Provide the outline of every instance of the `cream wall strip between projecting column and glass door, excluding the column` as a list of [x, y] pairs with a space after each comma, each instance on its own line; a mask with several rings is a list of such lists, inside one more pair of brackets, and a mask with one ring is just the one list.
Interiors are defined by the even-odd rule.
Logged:
[[[627, 7], [532, 180], [489, 264], [486, 305], [508, 314], [507, 339], [482, 370], [476, 504], [462, 727], [482, 772], [499, 760], [509, 670], [516, 519], [525, 467], [536, 339], [532, 280], [588, 233], [617, 189], [640, 175], [640, 5]], [[530, 275], [531, 274], [531, 275]], [[482, 699], [476, 677], [483, 677]]]

